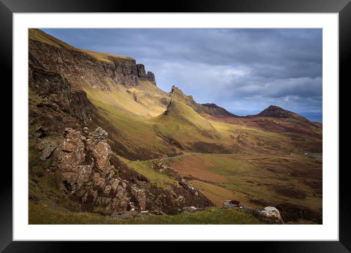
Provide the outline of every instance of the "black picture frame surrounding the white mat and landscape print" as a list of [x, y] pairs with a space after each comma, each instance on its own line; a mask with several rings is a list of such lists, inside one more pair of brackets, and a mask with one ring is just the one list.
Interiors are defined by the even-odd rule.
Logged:
[[[168, 6], [166, 8], [165, 6]], [[351, 55], [351, 2], [350, 0], [182, 0], [162, 5], [144, 1], [105, 0], [0, 0], [0, 55], [2, 77], [12, 94], [12, 15], [29, 12], [280, 12], [280, 13], [339, 13], [339, 89], [340, 83], [350, 84]], [[10, 88], [11, 87], [11, 88]], [[340, 101], [340, 100], [339, 100]], [[340, 115], [340, 113], [339, 113]], [[12, 121], [11, 121], [12, 122]], [[12, 124], [12, 123], [11, 123]], [[340, 124], [340, 123], [339, 123]], [[340, 125], [339, 125], [340, 126]], [[12, 126], [13, 127], [13, 126]], [[340, 128], [339, 128], [340, 129]], [[12, 135], [16, 134], [12, 131]], [[12, 150], [12, 149], [11, 149]], [[13, 150], [13, 152], [16, 152]], [[338, 170], [339, 168], [329, 168]], [[269, 252], [350, 252], [351, 208], [348, 167], [339, 170], [339, 241], [304, 242], [235, 242], [235, 251], [257, 247]], [[12, 172], [2, 168], [0, 183], [0, 251], [4, 252], [64, 252], [79, 244], [80, 251], [92, 252], [100, 247], [92, 242], [13, 242], [12, 241]], [[120, 246], [125, 243], [118, 242]], [[231, 242], [232, 244], [233, 242]], [[104, 246], [112, 242], [103, 242]], [[130, 244], [130, 243], [129, 243]], [[207, 243], [202, 243], [206, 248]], [[133, 247], [139, 247], [133, 243]], [[143, 246], [146, 247], [146, 246]], [[182, 251], [183, 246], [173, 242], [168, 251]], [[195, 246], [196, 247], [196, 246]], [[227, 247], [226, 244], [223, 247]], [[229, 246], [232, 247], [232, 246]], [[100, 248], [101, 249], [101, 248]], [[233, 248], [234, 249], [234, 248]]]

